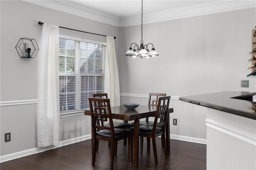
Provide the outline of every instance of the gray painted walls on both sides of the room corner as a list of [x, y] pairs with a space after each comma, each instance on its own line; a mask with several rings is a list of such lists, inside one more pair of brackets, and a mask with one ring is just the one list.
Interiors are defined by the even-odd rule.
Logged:
[[[246, 77], [251, 55], [251, 30], [256, 26], [255, 8], [186, 19], [144, 24], [144, 42], [154, 43], [159, 57], [133, 59], [124, 54], [130, 43], [140, 42], [140, 26], [119, 28], [21, 1], [0, 1], [1, 8], [1, 102], [37, 99], [37, 64], [20, 58], [15, 45], [20, 38], [36, 39], [41, 47], [38, 21], [116, 36], [120, 93], [149, 92], [185, 96], [216, 91], [255, 91], [255, 77]], [[105, 41], [105, 38], [60, 29], [60, 34]], [[248, 79], [249, 88], [240, 80]], [[121, 97], [121, 103], [146, 104], [145, 97]], [[15, 102], [14, 102], [15, 103]], [[171, 133], [206, 138], [206, 109], [172, 100], [178, 126]], [[0, 155], [36, 146], [36, 103], [2, 106], [0, 109]], [[4, 142], [4, 133], [12, 140]], [[90, 118], [79, 115], [61, 118], [60, 140], [90, 134]]]

